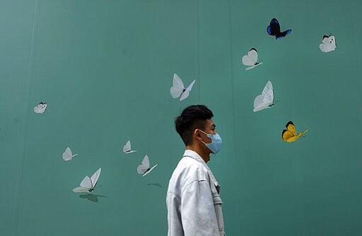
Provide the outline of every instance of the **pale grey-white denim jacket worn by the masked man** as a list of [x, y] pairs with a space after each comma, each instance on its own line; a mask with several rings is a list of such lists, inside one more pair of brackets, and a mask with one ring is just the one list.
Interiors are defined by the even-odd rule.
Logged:
[[204, 159], [192, 150], [168, 184], [168, 236], [223, 236], [220, 186]]

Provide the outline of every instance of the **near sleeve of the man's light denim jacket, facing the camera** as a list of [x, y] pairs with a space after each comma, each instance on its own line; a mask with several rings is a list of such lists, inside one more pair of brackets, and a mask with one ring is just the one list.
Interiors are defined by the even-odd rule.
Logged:
[[209, 182], [195, 180], [182, 191], [181, 218], [185, 236], [219, 236]]

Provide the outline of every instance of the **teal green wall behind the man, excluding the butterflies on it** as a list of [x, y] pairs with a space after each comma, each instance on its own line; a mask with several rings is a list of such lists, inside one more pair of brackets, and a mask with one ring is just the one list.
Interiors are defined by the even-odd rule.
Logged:
[[[360, 234], [361, 7], [1, 1], [1, 235], [166, 235], [165, 193], [184, 150], [173, 119], [195, 103], [223, 137], [209, 166], [228, 235]], [[267, 35], [273, 17], [292, 33]], [[338, 49], [320, 52], [328, 33]], [[264, 64], [245, 71], [251, 47]], [[170, 96], [173, 73], [197, 80], [185, 101]], [[253, 113], [267, 80], [280, 101]], [[36, 114], [40, 101], [48, 108]], [[309, 132], [284, 142], [288, 120]], [[138, 152], [122, 153], [127, 140]], [[78, 157], [64, 162], [68, 146]], [[141, 177], [145, 154], [158, 167]], [[99, 167], [95, 195], [71, 191]]]

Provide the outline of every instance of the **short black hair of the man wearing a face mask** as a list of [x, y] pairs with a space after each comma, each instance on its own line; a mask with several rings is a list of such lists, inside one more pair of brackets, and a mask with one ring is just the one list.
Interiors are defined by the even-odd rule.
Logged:
[[185, 145], [192, 145], [194, 130], [204, 130], [206, 120], [213, 116], [212, 111], [205, 105], [192, 105], [185, 108], [181, 115], [175, 118], [176, 131]]

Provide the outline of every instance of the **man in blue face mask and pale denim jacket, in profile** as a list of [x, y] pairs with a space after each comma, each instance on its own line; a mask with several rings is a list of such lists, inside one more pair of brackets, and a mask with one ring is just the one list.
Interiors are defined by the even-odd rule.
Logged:
[[222, 142], [213, 116], [206, 106], [194, 105], [175, 119], [186, 150], [168, 184], [168, 236], [225, 235], [220, 186], [206, 164]]

